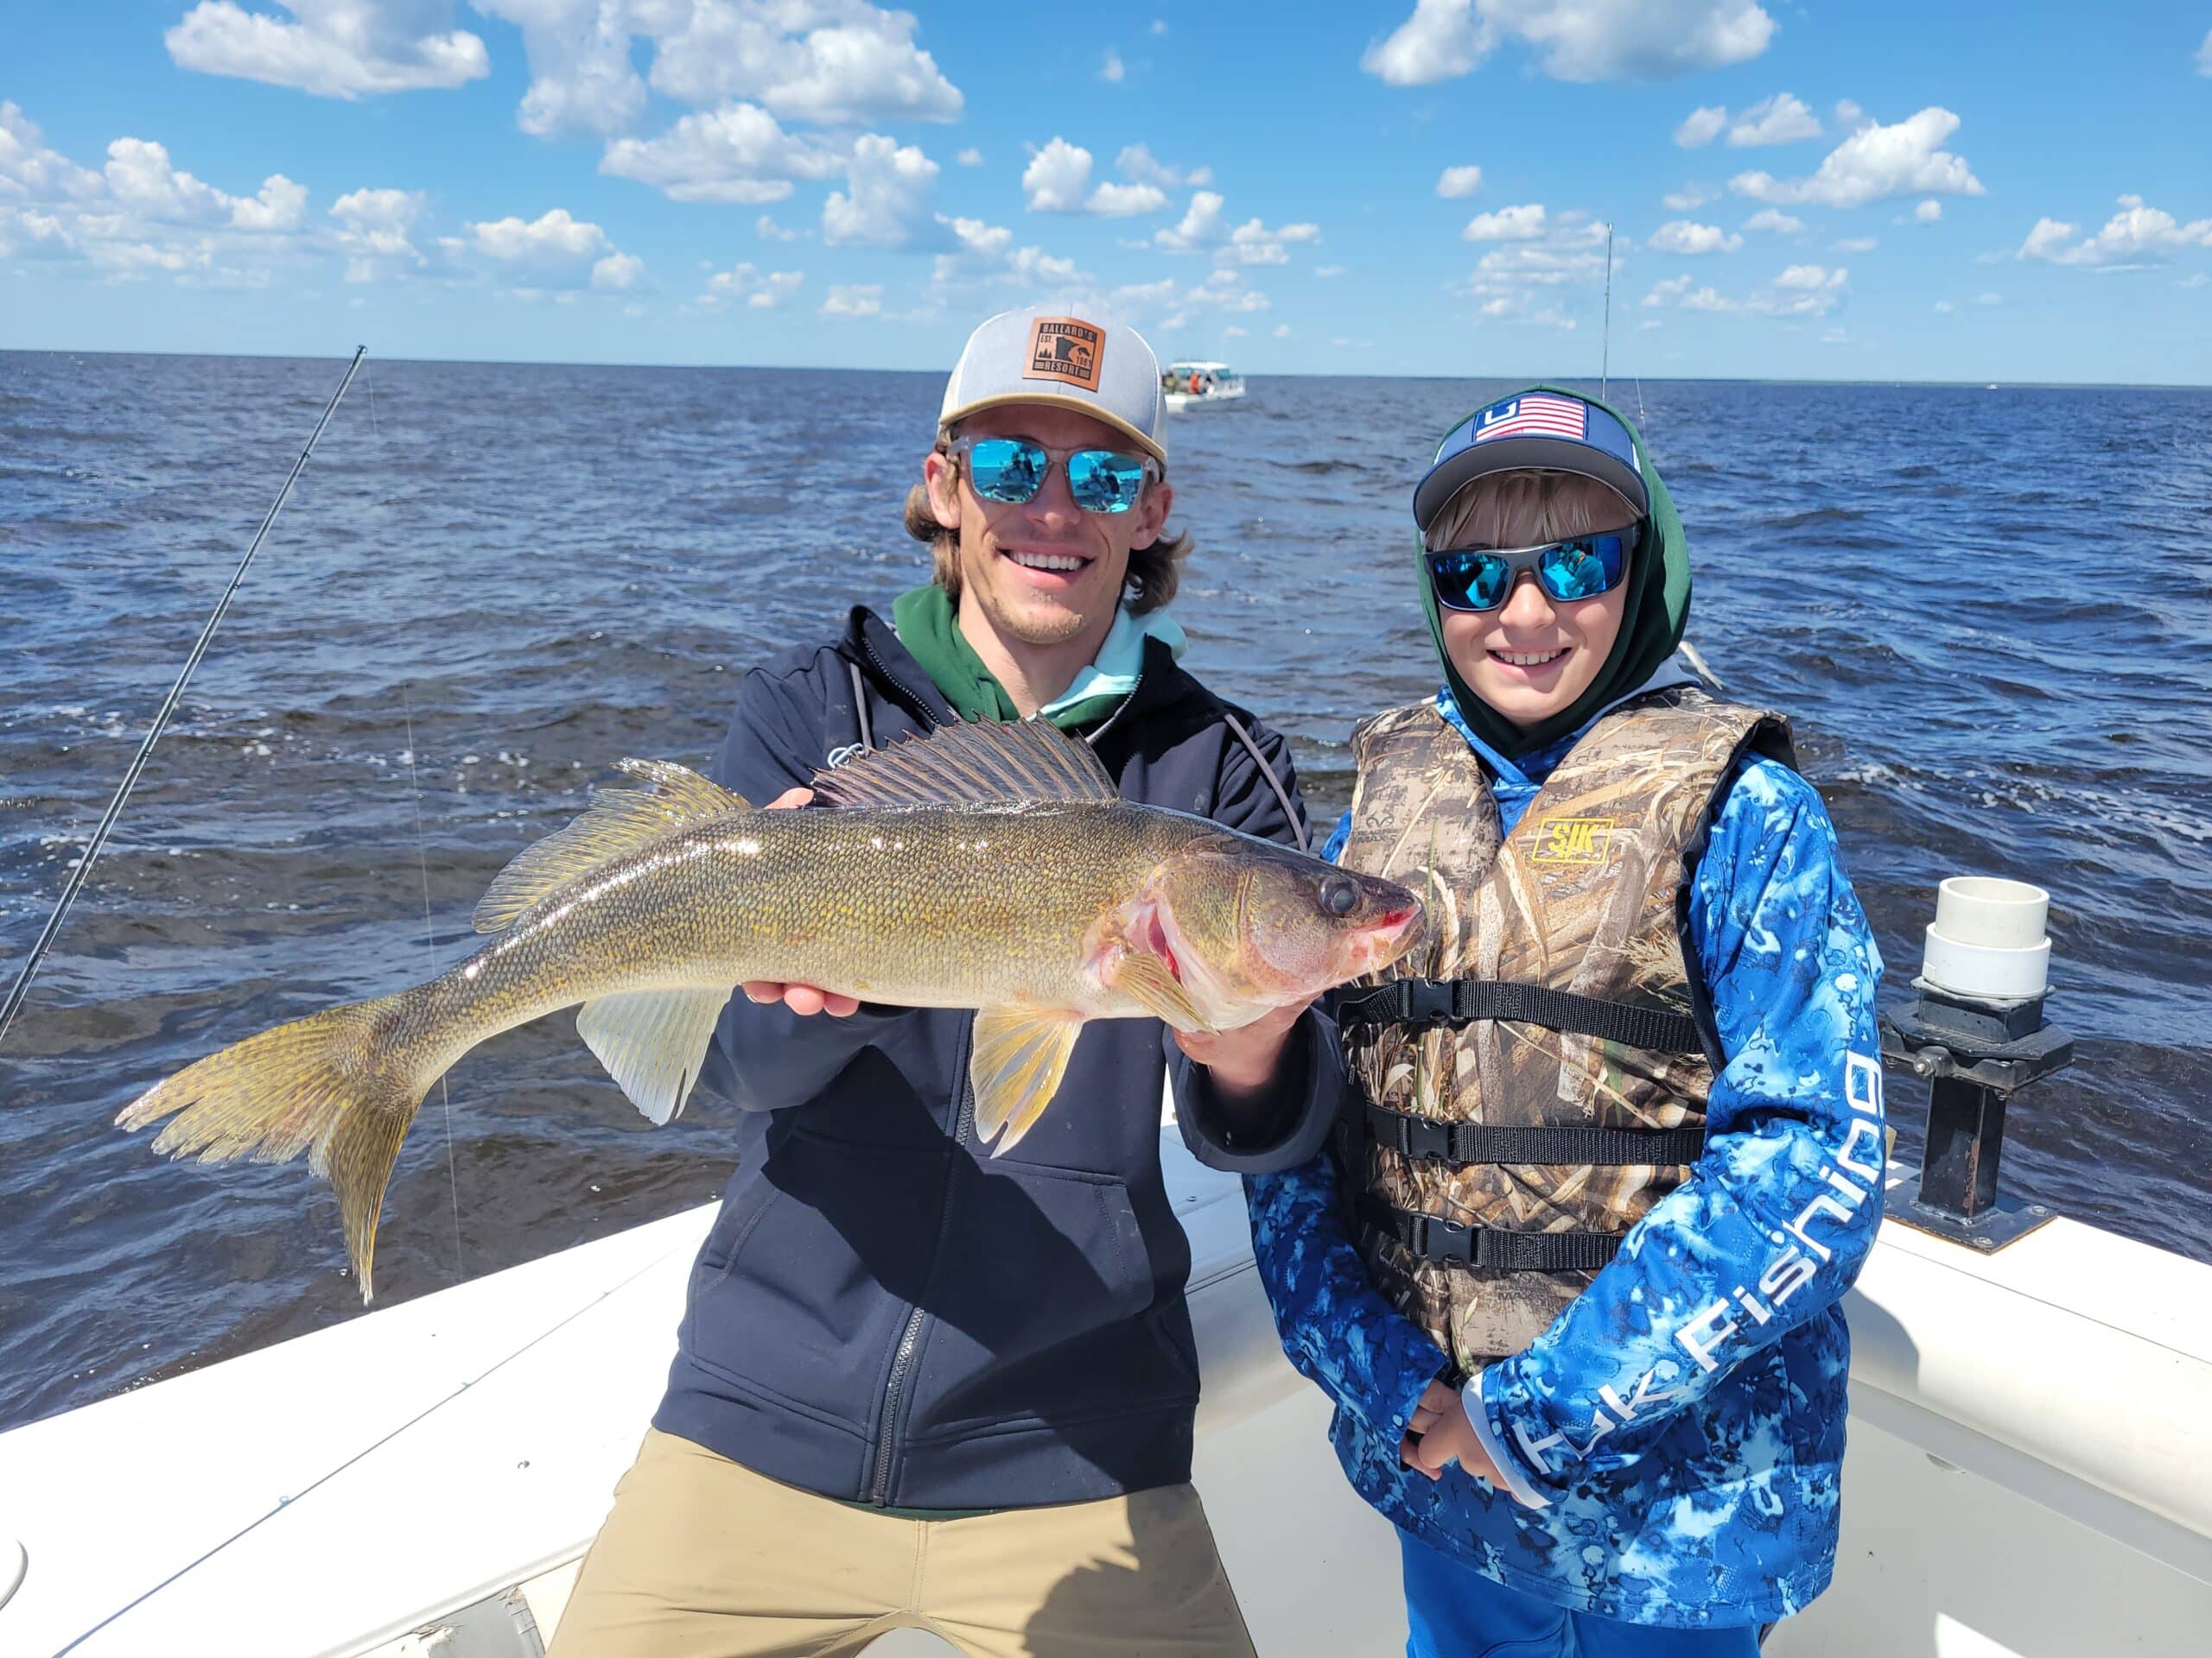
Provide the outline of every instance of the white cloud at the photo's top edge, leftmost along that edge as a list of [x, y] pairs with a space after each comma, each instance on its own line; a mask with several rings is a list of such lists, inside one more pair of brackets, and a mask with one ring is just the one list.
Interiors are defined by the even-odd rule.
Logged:
[[290, 18], [201, 0], [161, 35], [179, 69], [363, 97], [462, 86], [491, 73], [484, 42], [451, 22], [447, 0], [283, 0]]

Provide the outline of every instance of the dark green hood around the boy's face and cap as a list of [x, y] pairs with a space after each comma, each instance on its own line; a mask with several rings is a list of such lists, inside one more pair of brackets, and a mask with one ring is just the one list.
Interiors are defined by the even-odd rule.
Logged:
[[[1597, 670], [1597, 679], [1590, 681], [1590, 688], [1579, 699], [1528, 730], [1513, 725], [1491, 710], [1489, 703], [1467, 688], [1460, 670], [1451, 665], [1451, 657], [1444, 652], [1444, 623], [1436, 612], [1436, 588], [1429, 586], [1429, 566], [1420, 557], [1420, 531], [1413, 533], [1413, 579], [1420, 584], [1420, 608], [1429, 617], [1429, 641], [1436, 646], [1436, 659], [1444, 668], [1444, 683], [1451, 685], [1451, 696], [1458, 701], [1469, 730], [1509, 760], [1559, 741], [1606, 703], [1628, 696], [1628, 692], [1650, 679], [1674, 654], [1674, 648], [1681, 643], [1681, 630], [1690, 621], [1690, 542], [1681, 533], [1674, 497], [1666, 493], [1666, 484], [1659, 482], [1650, 453], [1644, 449], [1644, 433], [1610, 402], [1599, 402], [1584, 391], [1564, 385], [1533, 385], [1522, 387], [1522, 391], [1557, 391], [1568, 398], [1584, 398], [1584, 402], [1604, 409], [1628, 427], [1628, 436], [1637, 444], [1637, 471], [1644, 473], [1644, 486], [1650, 493], [1652, 506], [1650, 517], [1646, 517], [1644, 546], [1628, 562], [1628, 610], [1621, 617], [1619, 639], [1613, 641], [1613, 654], [1606, 657], [1606, 665]], [[1469, 413], [1467, 418], [1473, 416]], [[1447, 433], [1458, 431], [1462, 424], [1467, 420], [1451, 422]], [[1650, 555], [1652, 542], [1659, 546], [1657, 559]]]

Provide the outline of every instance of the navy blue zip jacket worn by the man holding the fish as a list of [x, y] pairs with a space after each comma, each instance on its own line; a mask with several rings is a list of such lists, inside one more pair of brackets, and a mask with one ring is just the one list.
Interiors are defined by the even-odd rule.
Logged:
[[[858, 670], [858, 681], [856, 672]], [[958, 718], [867, 610], [745, 676], [712, 776], [768, 802], [838, 749]], [[1241, 714], [1239, 714], [1241, 716]], [[1243, 718], [1243, 716], [1241, 716]], [[1250, 725], [1301, 814], [1283, 738]], [[1150, 643], [1093, 747], [1124, 798], [1294, 840], [1223, 703]], [[732, 997], [701, 1088], [741, 1108], [739, 1167], [692, 1267], [655, 1415], [770, 1479], [894, 1508], [1026, 1508], [1190, 1479], [1190, 1247], [1159, 1169], [1164, 1068], [1192, 1152], [1310, 1158], [1334, 1112], [1292, 1039], [1272, 1127], [1230, 1143], [1157, 1019], [1102, 1019], [1011, 1154], [975, 1143], [971, 1012], [799, 1017]]]

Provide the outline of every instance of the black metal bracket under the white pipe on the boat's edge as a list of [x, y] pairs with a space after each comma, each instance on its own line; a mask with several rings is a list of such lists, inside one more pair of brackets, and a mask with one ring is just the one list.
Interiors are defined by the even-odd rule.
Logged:
[[2048, 1220], [2046, 1205], [1997, 1196], [2006, 1103], [2073, 1061], [2073, 1037], [2044, 1024], [2044, 999], [1964, 1001], [1922, 984], [1916, 1004], [1878, 1024], [1882, 1057], [1929, 1079], [1920, 1194], [1893, 1203], [1891, 1218], [1982, 1253]]

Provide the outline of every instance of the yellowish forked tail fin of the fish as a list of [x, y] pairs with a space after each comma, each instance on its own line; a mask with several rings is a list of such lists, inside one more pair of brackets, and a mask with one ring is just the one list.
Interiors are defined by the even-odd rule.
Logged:
[[453, 1059], [411, 1030], [407, 1015], [422, 988], [349, 1001], [232, 1043], [139, 1094], [115, 1123], [168, 1119], [153, 1150], [201, 1163], [288, 1163], [305, 1152], [307, 1167], [338, 1192], [345, 1253], [361, 1300], [369, 1300], [392, 1165], [422, 1094]]

